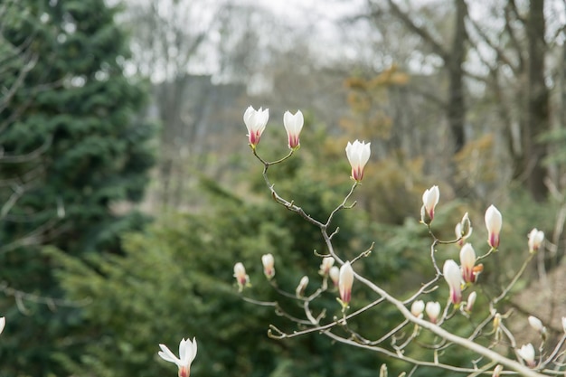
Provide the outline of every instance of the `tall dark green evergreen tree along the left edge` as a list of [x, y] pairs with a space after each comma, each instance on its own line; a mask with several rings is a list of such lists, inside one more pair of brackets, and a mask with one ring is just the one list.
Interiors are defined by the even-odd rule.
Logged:
[[[0, 205], [17, 199], [0, 216], [0, 281], [49, 303], [61, 292], [43, 245], [80, 258], [119, 253], [118, 234], [146, 222], [124, 208], [142, 198], [153, 127], [135, 118], [145, 90], [124, 75], [118, 9], [103, 0], [0, 5], [0, 51], [11, 52], [0, 75], [14, 88], [0, 108]], [[80, 327], [77, 309], [20, 296], [0, 297], [9, 323], [1, 374], [61, 375], [53, 355], [79, 349], [67, 336]]]

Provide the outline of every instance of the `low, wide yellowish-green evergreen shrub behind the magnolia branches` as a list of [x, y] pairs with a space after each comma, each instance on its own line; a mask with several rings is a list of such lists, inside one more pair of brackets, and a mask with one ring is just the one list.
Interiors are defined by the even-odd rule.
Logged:
[[[269, 324], [289, 332], [300, 327], [277, 316], [273, 307], [247, 303], [238, 294], [232, 274], [235, 262], [241, 261], [252, 284], [244, 289], [244, 296], [277, 300], [289, 314], [304, 317], [295, 300], [281, 297], [269, 286], [261, 255], [274, 255], [278, 287], [294, 294], [299, 279], [307, 274], [311, 281], [307, 294], [312, 293], [322, 282], [317, 274], [321, 259], [313, 254], [315, 249], [324, 252], [316, 236], [319, 231], [271, 201], [242, 200], [211, 181], [204, 186], [203, 193], [214, 193], [205, 211], [168, 215], [144, 232], [127, 235], [125, 256], [80, 261], [50, 251], [61, 261], [59, 277], [69, 296], [90, 300], [81, 312], [89, 329], [84, 356], [80, 363], [61, 359], [69, 372], [108, 377], [174, 375], [175, 365], [157, 357], [158, 344], [176, 352], [181, 338], [195, 336], [199, 344], [191, 374], [195, 376], [375, 375], [381, 364], [378, 354], [352, 352], [318, 333], [269, 339]], [[311, 213], [326, 212], [323, 202], [333, 202], [331, 197], [335, 203], [341, 201], [338, 194], [322, 194], [319, 189], [307, 184], [295, 188]], [[251, 195], [258, 194], [247, 197]], [[335, 225], [356, 239], [368, 231], [364, 223], [360, 212], [352, 211], [337, 216]], [[352, 245], [344, 238], [336, 239], [336, 246], [347, 250]], [[385, 271], [391, 271], [391, 265], [373, 267], [373, 276], [390, 276]], [[356, 306], [367, 302], [365, 295], [354, 287], [353, 301], [360, 302]], [[328, 308], [325, 321], [340, 316], [335, 297], [337, 292], [330, 290], [316, 304], [316, 313], [322, 306]], [[363, 318], [364, 328], [379, 329], [387, 322], [377, 313]]]

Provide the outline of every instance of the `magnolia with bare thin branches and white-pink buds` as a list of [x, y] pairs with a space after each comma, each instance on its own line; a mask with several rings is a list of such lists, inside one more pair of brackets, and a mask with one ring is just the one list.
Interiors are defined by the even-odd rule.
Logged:
[[[236, 284], [243, 299], [257, 305], [273, 306], [278, 315], [287, 317], [290, 324], [297, 325], [297, 329], [290, 332], [283, 331], [275, 325], [269, 325], [269, 337], [285, 339], [311, 333], [325, 335], [335, 342], [372, 350], [382, 353], [386, 357], [413, 365], [410, 372], [401, 373], [403, 376], [410, 376], [420, 366], [436, 367], [474, 376], [482, 374], [492, 376], [564, 374], [566, 363], [563, 363], [563, 360], [566, 353], [561, 348], [566, 340], [566, 335], [564, 335], [566, 333], [566, 317], [562, 317], [564, 333], [556, 344], [546, 344], [547, 330], [540, 319], [534, 316], [528, 318], [529, 325], [533, 327], [533, 331], [538, 332], [541, 339], [540, 344], [537, 344], [535, 349], [533, 344], [517, 344], [514, 334], [505, 325], [506, 315], [499, 312], [500, 304], [505, 297], [509, 296], [511, 289], [523, 275], [531, 259], [542, 247], [544, 240], [542, 231], [533, 229], [530, 232], [526, 245], [529, 250], [528, 258], [524, 260], [524, 264], [514, 275], [514, 278], [501, 288], [495, 297], [489, 299], [486, 311], [481, 313], [477, 307], [474, 309], [477, 297], [475, 285], [478, 275], [484, 269], [483, 263], [488, 263], [489, 257], [497, 252], [503, 216], [494, 205], [487, 208], [485, 214], [488, 233], [487, 247], [486, 252], [482, 255], [476, 255], [476, 250], [474, 250], [472, 244], [467, 242], [472, 235], [472, 225], [467, 213], [456, 224], [455, 239], [440, 240], [431, 226], [435, 218], [435, 208], [439, 203], [440, 192], [438, 186], [432, 186], [422, 195], [423, 204], [420, 210], [420, 222], [427, 227], [431, 239], [429, 261], [433, 277], [428, 282], [421, 284], [420, 287], [415, 287], [408, 298], [395, 297], [384, 287], [375, 284], [369, 278], [364, 277], [363, 273], [358, 272], [363, 270], [358, 266], [361, 267], [364, 258], [370, 257], [373, 245], [350, 260], [344, 259], [344, 256], [333, 246], [333, 239], [338, 232], [338, 229], [332, 227], [333, 220], [338, 212], [352, 209], [355, 205], [355, 202], [351, 202], [351, 198], [356, 187], [363, 181], [363, 170], [371, 154], [370, 143], [355, 140], [353, 143], [348, 142], [345, 146], [346, 157], [352, 167], [352, 187], [345, 194], [344, 201], [337, 203], [335, 209], [330, 212], [325, 220], [319, 220], [305, 212], [299, 206], [299, 203], [282, 197], [275, 190], [274, 184], [270, 182], [268, 174], [271, 166], [284, 163], [299, 149], [299, 134], [304, 123], [302, 113], [300, 111], [297, 111], [294, 115], [290, 112], [285, 113], [283, 123], [288, 134], [289, 152], [287, 156], [272, 162], [262, 158], [258, 150], [260, 137], [269, 120], [269, 109], [259, 108], [259, 110], [256, 110], [250, 107], [245, 111], [243, 119], [248, 128], [251, 151], [253, 156], [263, 165], [262, 174], [271, 197], [285, 209], [296, 212], [305, 221], [316, 226], [321, 231], [326, 249], [325, 254], [317, 252], [314, 254], [314, 258], [320, 259], [320, 269], [317, 271], [319, 278], [316, 281], [316, 288], [311, 294], [307, 294], [307, 291], [313, 290], [314, 282], [310, 280], [308, 274], [300, 278], [296, 287], [285, 290], [279, 287], [276, 282], [273, 255], [266, 254], [261, 258], [263, 272], [269, 284], [278, 294], [296, 300], [302, 308], [301, 312], [304, 315], [302, 317], [289, 314], [278, 305], [278, 302], [265, 302], [243, 296], [245, 289], [250, 287], [250, 277], [241, 262], [234, 265], [234, 278], [236, 278]], [[460, 248], [459, 260], [447, 259], [440, 263], [436, 255], [437, 249], [448, 244], [458, 245]], [[442, 268], [439, 266], [442, 266]], [[351, 307], [352, 290], [356, 285], [371, 290], [373, 298], [367, 305], [354, 310]], [[440, 290], [441, 294], [446, 292], [444, 308], [438, 301], [427, 299], [431, 292], [437, 290]], [[314, 303], [327, 294], [336, 295], [336, 306], [327, 307], [323, 310], [313, 308]], [[378, 338], [370, 338], [361, 332], [354, 331], [354, 327], [349, 325], [363, 313], [388, 304], [396, 309], [402, 319]], [[326, 312], [332, 310], [335, 310], [338, 315], [327, 318]], [[376, 315], [379, 316], [379, 314], [380, 311], [377, 310]], [[457, 331], [454, 326], [450, 326], [458, 321], [458, 316], [467, 319], [470, 319], [471, 316], [475, 317], [474, 321], [467, 322], [470, 324], [470, 328], [467, 329], [467, 336], [465, 337], [456, 334]], [[425, 333], [434, 335], [432, 344], [420, 341]], [[488, 338], [487, 342], [486, 338]], [[422, 353], [413, 352], [415, 354], [411, 354], [410, 344], [421, 344], [423, 347], [432, 350], [432, 360], [423, 356]], [[159, 355], [165, 361], [175, 363], [178, 366], [179, 377], [188, 377], [191, 363], [196, 355], [196, 340], [193, 339], [193, 342], [191, 342], [183, 339], [179, 344], [178, 358], [164, 344], [160, 344], [160, 347]], [[475, 354], [470, 358], [470, 366], [448, 363], [445, 360], [448, 357], [444, 356], [444, 351], [448, 347], [460, 347], [470, 354]], [[385, 377], [386, 375], [387, 366], [383, 364], [380, 376]]]

